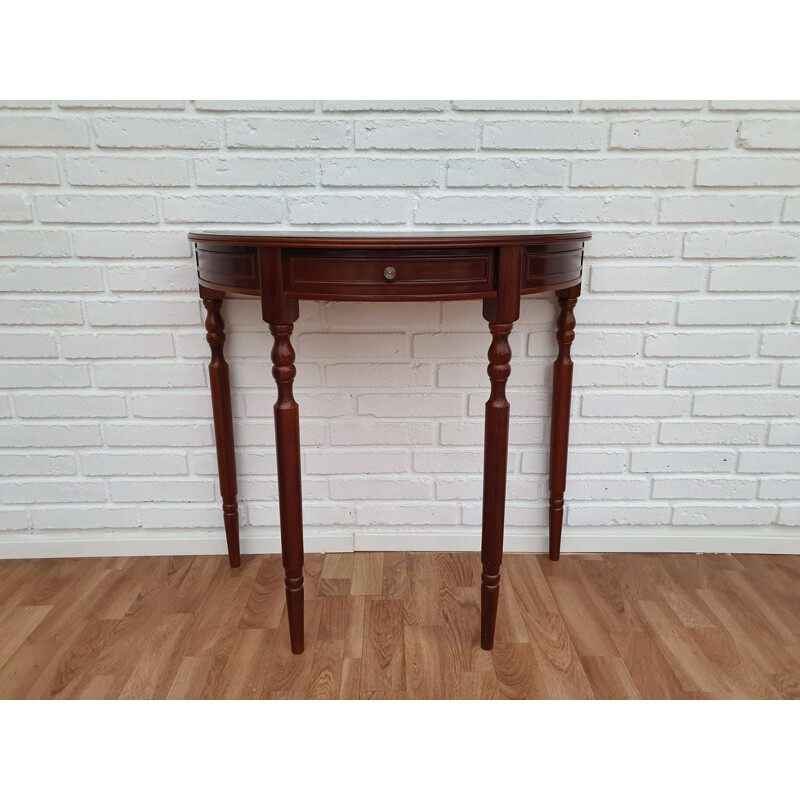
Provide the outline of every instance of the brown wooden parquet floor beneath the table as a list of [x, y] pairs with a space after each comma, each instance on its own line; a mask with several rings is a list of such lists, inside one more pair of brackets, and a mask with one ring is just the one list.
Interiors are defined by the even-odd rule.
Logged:
[[799, 698], [800, 556], [477, 553], [0, 561], [2, 698]]

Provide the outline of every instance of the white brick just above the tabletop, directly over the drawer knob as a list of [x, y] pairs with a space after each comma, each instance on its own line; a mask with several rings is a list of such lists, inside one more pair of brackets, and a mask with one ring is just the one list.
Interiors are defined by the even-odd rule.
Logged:
[[289, 198], [289, 221], [302, 224], [396, 225], [408, 217], [402, 195], [312, 195]]

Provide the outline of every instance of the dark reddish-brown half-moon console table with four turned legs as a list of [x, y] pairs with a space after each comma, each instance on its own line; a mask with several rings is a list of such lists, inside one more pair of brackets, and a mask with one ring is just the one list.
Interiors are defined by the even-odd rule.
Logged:
[[481, 562], [481, 647], [494, 643], [508, 457], [511, 372], [508, 335], [519, 318], [520, 297], [554, 291], [558, 356], [553, 372], [550, 434], [550, 558], [561, 548], [572, 394], [570, 347], [573, 308], [581, 291], [582, 231], [483, 232], [203, 232], [194, 242], [200, 297], [206, 307], [209, 374], [214, 408], [222, 510], [232, 567], [239, 566], [239, 513], [230, 381], [223, 355], [222, 301], [226, 294], [261, 297], [274, 337], [272, 374], [278, 386], [275, 443], [281, 548], [293, 653], [303, 652], [303, 517], [300, 491], [300, 416], [292, 394], [290, 341], [298, 300], [483, 300], [492, 334], [491, 392], [486, 403]]

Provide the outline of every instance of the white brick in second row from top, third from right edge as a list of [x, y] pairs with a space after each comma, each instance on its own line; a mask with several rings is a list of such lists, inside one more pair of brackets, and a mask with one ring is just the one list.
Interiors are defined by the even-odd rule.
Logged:
[[498, 120], [483, 123], [485, 150], [599, 150], [606, 124], [595, 120]]

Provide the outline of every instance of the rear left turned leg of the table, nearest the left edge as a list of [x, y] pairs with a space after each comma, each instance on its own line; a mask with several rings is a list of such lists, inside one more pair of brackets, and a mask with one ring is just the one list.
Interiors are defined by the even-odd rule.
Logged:
[[211, 404], [214, 409], [214, 435], [217, 442], [219, 488], [222, 495], [222, 514], [225, 520], [225, 538], [228, 542], [228, 560], [232, 567], [241, 563], [239, 553], [239, 507], [236, 502], [236, 456], [233, 447], [233, 413], [231, 411], [231, 382], [228, 364], [223, 355], [225, 322], [222, 319], [221, 292], [201, 287], [200, 296], [206, 307], [206, 340], [211, 345], [211, 362], [208, 365], [211, 383]]

